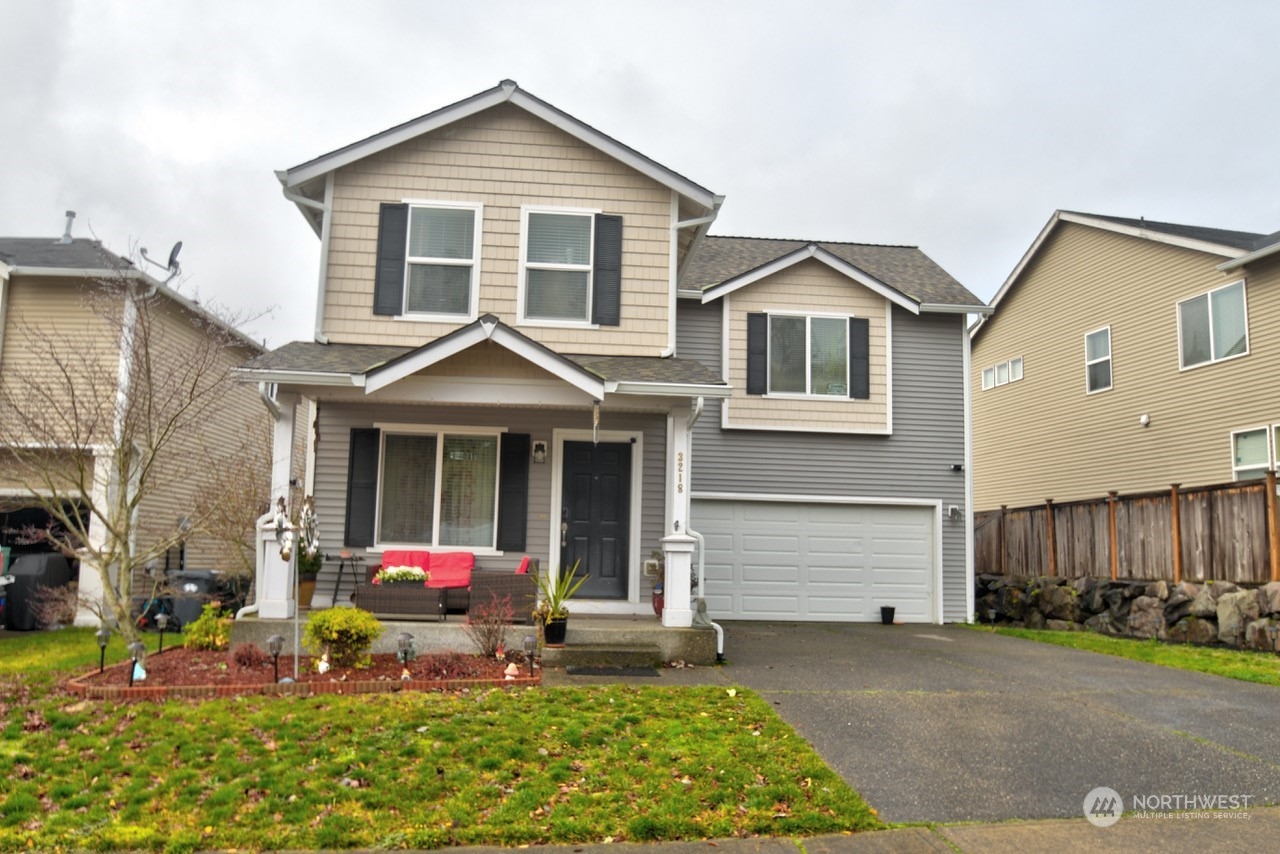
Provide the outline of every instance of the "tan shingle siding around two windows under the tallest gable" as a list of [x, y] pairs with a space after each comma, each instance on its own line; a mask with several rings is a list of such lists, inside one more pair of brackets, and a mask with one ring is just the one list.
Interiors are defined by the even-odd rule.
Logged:
[[325, 333], [342, 343], [420, 344], [458, 324], [372, 314], [379, 202], [480, 202], [480, 314], [515, 325], [522, 205], [623, 218], [622, 325], [521, 326], [561, 351], [652, 356], [667, 347], [671, 191], [503, 105], [339, 169], [334, 181]]

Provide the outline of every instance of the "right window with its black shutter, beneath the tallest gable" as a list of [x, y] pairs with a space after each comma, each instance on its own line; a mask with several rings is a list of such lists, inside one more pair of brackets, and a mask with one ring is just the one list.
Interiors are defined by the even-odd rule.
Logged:
[[522, 225], [520, 319], [618, 325], [622, 218], [526, 209]]

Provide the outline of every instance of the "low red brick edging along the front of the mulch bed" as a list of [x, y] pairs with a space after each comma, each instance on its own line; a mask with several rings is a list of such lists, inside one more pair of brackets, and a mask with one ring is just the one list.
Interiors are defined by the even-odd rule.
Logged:
[[[119, 670], [122, 677], [133, 662], [111, 665], [108, 670]], [[251, 685], [88, 685], [84, 680], [97, 676], [88, 673], [67, 681], [67, 689], [90, 700], [163, 700], [168, 698], [209, 698], [209, 697], [314, 697], [317, 694], [393, 694], [396, 691], [458, 691], [474, 688], [526, 688], [541, 685], [541, 671], [536, 676], [517, 676], [516, 679], [411, 679], [411, 680], [366, 680], [332, 682], [275, 682]]]

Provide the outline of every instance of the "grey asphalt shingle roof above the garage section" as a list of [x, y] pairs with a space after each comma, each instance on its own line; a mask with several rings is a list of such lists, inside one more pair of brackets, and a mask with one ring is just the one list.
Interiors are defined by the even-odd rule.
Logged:
[[876, 246], [763, 237], [708, 237], [682, 286], [707, 291], [814, 243], [920, 303], [980, 306], [982, 300], [915, 246]]

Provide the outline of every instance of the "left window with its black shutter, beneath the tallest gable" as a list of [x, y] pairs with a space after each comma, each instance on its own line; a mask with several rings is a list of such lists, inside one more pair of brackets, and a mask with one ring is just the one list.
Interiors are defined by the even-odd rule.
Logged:
[[383, 204], [374, 314], [416, 320], [475, 318], [481, 222], [481, 205]]

